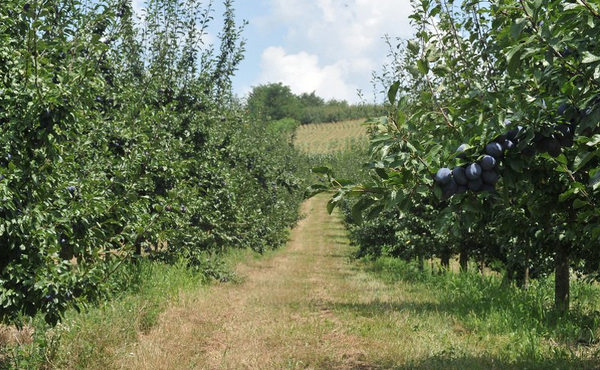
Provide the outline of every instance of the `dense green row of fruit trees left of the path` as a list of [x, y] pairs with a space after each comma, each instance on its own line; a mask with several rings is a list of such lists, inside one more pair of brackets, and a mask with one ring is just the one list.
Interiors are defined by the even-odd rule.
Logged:
[[54, 324], [146, 256], [202, 270], [283, 243], [302, 160], [234, 101], [244, 42], [224, 5], [213, 48], [197, 0], [149, 0], [139, 21], [126, 0], [0, 4], [4, 321]]

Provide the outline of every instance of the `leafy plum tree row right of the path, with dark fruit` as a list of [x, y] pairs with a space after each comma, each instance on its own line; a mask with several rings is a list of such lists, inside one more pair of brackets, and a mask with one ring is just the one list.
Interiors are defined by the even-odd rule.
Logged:
[[331, 204], [367, 216], [361, 252], [459, 255], [524, 285], [554, 273], [565, 312], [574, 272], [600, 278], [600, 7], [411, 4], [414, 38], [389, 39], [377, 78], [390, 112], [372, 128], [371, 179], [331, 180]]

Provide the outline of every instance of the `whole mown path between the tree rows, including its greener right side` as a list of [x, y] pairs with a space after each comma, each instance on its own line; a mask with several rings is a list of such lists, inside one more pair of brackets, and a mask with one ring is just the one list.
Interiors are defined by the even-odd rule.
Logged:
[[[118, 356], [122, 369], [498, 369], [502, 335], [473, 335], [435, 293], [385, 284], [349, 263], [325, 197], [288, 246], [238, 268], [240, 283], [195, 292]], [[484, 350], [484, 348], [487, 348]]]

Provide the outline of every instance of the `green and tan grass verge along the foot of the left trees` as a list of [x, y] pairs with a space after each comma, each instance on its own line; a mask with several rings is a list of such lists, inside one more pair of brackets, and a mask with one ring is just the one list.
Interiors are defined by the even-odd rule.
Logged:
[[[232, 250], [209, 260], [206, 271], [235, 279], [232, 266], [253, 254]], [[21, 324], [32, 334], [21, 343], [1, 346], [0, 369], [114, 368], [115, 358], [127, 356], [139, 335], [147, 333], [167, 307], [176, 305], [185, 292], [214, 281], [206, 271], [190, 268], [185, 260], [165, 264], [143, 259], [127, 265], [112, 277], [120, 286], [119, 295], [88, 304], [80, 312], [67, 311], [54, 328], [42, 317], [23, 319]]]

